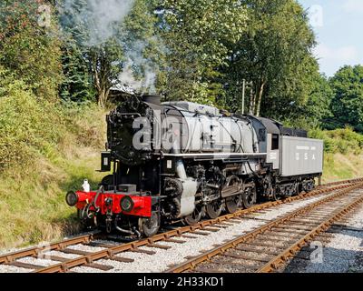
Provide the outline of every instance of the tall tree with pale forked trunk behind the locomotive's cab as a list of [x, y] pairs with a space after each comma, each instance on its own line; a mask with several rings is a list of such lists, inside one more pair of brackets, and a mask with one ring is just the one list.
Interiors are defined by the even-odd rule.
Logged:
[[[315, 36], [308, 16], [295, 0], [245, 0], [247, 29], [231, 44], [230, 62], [222, 68], [228, 88], [227, 105], [241, 104], [241, 81], [248, 91], [248, 112], [276, 116], [289, 111], [309, 94], [309, 75], [318, 72], [311, 55]], [[307, 84], [308, 82], [308, 84]], [[308, 88], [308, 90], [307, 90]], [[282, 112], [281, 112], [282, 113]]]

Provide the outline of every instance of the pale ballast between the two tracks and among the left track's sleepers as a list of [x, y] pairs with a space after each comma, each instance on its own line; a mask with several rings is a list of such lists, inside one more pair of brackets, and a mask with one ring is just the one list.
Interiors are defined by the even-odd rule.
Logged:
[[[333, 192], [334, 193], [334, 192]], [[214, 247], [214, 245], [221, 245], [225, 243], [226, 240], [231, 240], [235, 236], [240, 236], [245, 234], [259, 226], [267, 224], [270, 220], [276, 219], [279, 216], [284, 216], [287, 213], [294, 211], [300, 207], [308, 206], [311, 203], [314, 203], [322, 198], [327, 197], [327, 195], [320, 195], [314, 197], [308, 197], [303, 200], [299, 200], [296, 202], [291, 202], [286, 205], [275, 206], [272, 209], [264, 209], [263, 211], [256, 212], [254, 214], [250, 214], [249, 217], [243, 218], [240, 222], [235, 223], [226, 228], [221, 228], [218, 232], [209, 233], [209, 236], [201, 236], [194, 233], [188, 233], [186, 235], [195, 236], [195, 238], [184, 238], [181, 237], [182, 240], [186, 242], [183, 244], [175, 244], [171, 242], [158, 242], [158, 245], [162, 246], [172, 246], [170, 249], [160, 249], [154, 247], [142, 246], [141, 249], [152, 250], [155, 252], [154, 255], [147, 255], [143, 253], [133, 253], [133, 252], [124, 252], [117, 256], [133, 258], [134, 262], [132, 263], [122, 263], [113, 260], [98, 260], [94, 263], [103, 264], [106, 266], [113, 266], [113, 269], [107, 271], [109, 273], [141, 273], [141, 272], [162, 272], [168, 269], [169, 266], [180, 264], [186, 260], [186, 256], [198, 256], [201, 254], [201, 251], [205, 251]], [[252, 218], [250, 218], [252, 217]], [[115, 243], [113, 241], [103, 240], [99, 241], [100, 243], [104, 243], [107, 245], [119, 245], [119, 243]], [[104, 250], [104, 247], [98, 246], [85, 246], [85, 245], [75, 245], [68, 246], [68, 248], [82, 250], [87, 252], [97, 252]], [[14, 251], [17, 251], [15, 249]], [[5, 251], [8, 253], [8, 251]], [[74, 254], [64, 254], [58, 251], [52, 251], [47, 253], [49, 256], [62, 256], [67, 258], [76, 258], [78, 255]], [[28, 258], [25, 257], [19, 261], [23, 261], [24, 263], [40, 265], [40, 266], [50, 266], [55, 265], [59, 262], [46, 260], [46, 259], [37, 259], [37, 258]], [[23, 269], [14, 266], [5, 266], [0, 265], [0, 273], [7, 272], [31, 272], [30, 269]], [[74, 267], [72, 269], [73, 272], [80, 273], [103, 273], [96, 268], [79, 266]]]

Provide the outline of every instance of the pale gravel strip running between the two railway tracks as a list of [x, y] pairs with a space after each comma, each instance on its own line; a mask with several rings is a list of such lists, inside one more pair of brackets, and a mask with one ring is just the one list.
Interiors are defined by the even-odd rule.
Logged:
[[[244, 218], [240, 222], [221, 228], [218, 232], [212, 232], [209, 236], [200, 236], [193, 233], [186, 235], [196, 236], [196, 238], [183, 238], [186, 242], [183, 244], [175, 244], [171, 242], [158, 242], [158, 245], [172, 246], [168, 250], [142, 246], [141, 249], [152, 250], [154, 255], [142, 253], [123, 252], [117, 256], [132, 258], [132, 263], [123, 263], [113, 260], [98, 260], [97, 264], [113, 266], [113, 269], [106, 271], [107, 273], [153, 273], [166, 271], [169, 266], [180, 264], [186, 260], [186, 256], [201, 255], [201, 251], [209, 250], [215, 246], [225, 243], [226, 240], [231, 240], [235, 236], [246, 234], [249, 231], [267, 224], [270, 220], [276, 219], [279, 216], [286, 215], [300, 207], [308, 206], [311, 203], [318, 201], [326, 196], [314, 196], [306, 198], [302, 201], [292, 202], [288, 205], [277, 206], [273, 209], [264, 209], [264, 213], [257, 213], [253, 216], [256, 219]], [[81, 247], [81, 246], [80, 246]], [[87, 272], [84, 267], [74, 267], [74, 272]], [[94, 271], [94, 270], [93, 270]], [[103, 272], [97, 270], [97, 272]]]

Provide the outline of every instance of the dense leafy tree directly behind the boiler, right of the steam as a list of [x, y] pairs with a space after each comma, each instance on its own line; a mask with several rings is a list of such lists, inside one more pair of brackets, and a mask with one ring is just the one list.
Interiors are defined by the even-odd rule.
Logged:
[[218, 67], [240, 40], [246, 11], [235, 0], [165, 0], [159, 8], [168, 99], [215, 103], [223, 94]]

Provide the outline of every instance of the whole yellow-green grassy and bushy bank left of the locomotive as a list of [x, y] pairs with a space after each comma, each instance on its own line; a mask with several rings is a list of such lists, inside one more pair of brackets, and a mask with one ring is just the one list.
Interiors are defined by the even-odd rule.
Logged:
[[104, 174], [105, 112], [40, 100], [0, 70], [0, 247], [53, 241], [77, 231], [66, 192]]

